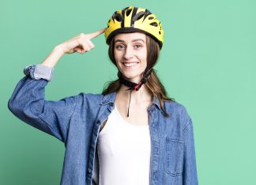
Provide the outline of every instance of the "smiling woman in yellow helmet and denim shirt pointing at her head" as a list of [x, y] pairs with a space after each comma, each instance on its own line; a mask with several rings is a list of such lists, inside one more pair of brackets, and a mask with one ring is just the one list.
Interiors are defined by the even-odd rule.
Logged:
[[[102, 94], [46, 101], [44, 87], [63, 54], [84, 54], [105, 33], [118, 80]], [[164, 31], [148, 9], [116, 11], [107, 28], [59, 44], [40, 65], [24, 68], [9, 109], [64, 142], [61, 184], [198, 184], [193, 125], [156, 76]], [[143, 85], [145, 84], [145, 85]]]

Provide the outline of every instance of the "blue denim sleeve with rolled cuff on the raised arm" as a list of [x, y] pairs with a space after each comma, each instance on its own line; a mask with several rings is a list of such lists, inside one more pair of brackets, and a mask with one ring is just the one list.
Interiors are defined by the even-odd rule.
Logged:
[[76, 97], [46, 101], [47, 83], [52, 80], [52, 68], [30, 65], [9, 98], [9, 110], [20, 120], [66, 143], [67, 128], [76, 105]]

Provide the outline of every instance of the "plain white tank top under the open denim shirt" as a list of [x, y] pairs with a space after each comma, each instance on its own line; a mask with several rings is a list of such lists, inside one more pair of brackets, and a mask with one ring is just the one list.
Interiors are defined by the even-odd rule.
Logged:
[[149, 125], [126, 122], [115, 106], [100, 131], [97, 150], [100, 185], [149, 185]]

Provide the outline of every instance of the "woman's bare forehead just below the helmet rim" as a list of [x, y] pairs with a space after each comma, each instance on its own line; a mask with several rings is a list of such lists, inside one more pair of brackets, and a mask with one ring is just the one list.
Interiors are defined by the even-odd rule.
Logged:
[[140, 32], [119, 33], [115, 35], [115, 41], [117, 40], [127, 42], [127, 43], [137, 41], [137, 40], [146, 42], [146, 36], [144, 33], [140, 33]]

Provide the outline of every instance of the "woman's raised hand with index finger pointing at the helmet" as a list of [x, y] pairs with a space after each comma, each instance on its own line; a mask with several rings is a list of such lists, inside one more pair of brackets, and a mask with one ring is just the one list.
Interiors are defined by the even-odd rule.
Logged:
[[64, 43], [59, 44], [58, 48], [62, 50], [63, 54], [73, 54], [75, 52], [84, 54], [95, 47], [91, 39], [104, 33], [105, 29], [106, 28], [89, 34], [81, 33]]

